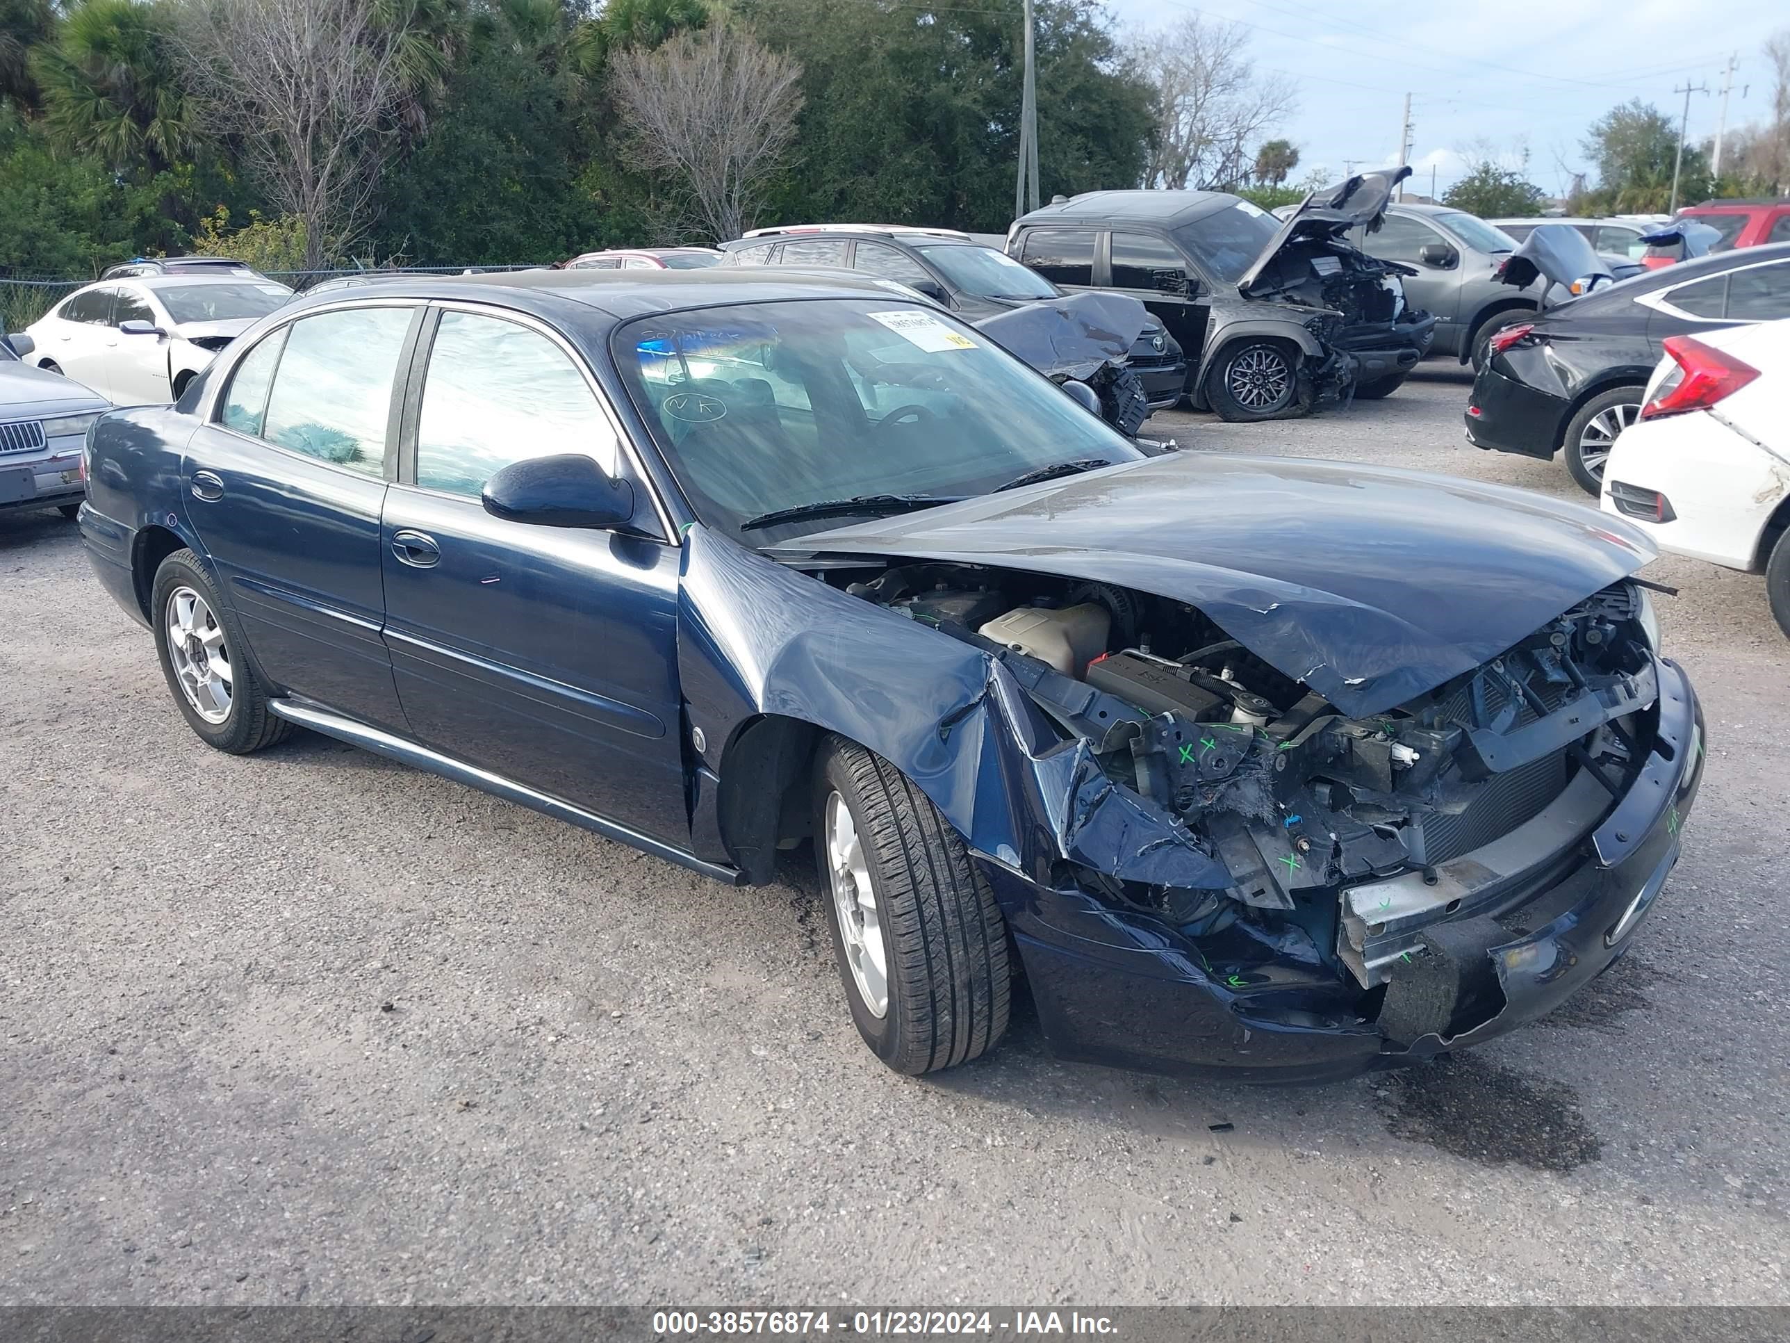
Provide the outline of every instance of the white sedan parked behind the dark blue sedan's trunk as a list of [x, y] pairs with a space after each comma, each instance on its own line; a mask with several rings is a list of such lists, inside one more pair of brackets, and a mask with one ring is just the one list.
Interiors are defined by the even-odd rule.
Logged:
[[25, 328], [29, 362], [116, 405], [174, 401], [238, 331], [288, 299], [285, 285], [242, 276], [107, 279]]

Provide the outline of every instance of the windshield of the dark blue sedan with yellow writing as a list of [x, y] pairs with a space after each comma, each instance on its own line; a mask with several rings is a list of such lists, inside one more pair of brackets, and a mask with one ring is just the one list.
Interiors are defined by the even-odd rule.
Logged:
[[1142, 457], [974, 328], [891, 297], [641, 317], [610, 349], [696, 516], [754, 546], [850, 521], [741, 528], [780, 509], [956, 500], [1045, 466]]

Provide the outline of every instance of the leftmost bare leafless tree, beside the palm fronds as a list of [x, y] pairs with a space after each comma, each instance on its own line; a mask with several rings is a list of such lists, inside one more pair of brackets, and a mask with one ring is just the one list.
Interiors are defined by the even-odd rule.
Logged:
[[199, 116], [242, 145], [245, 167], [304, 222], [306, 267], [372, 222], [397, 150], [408, 13], [378, 0], [190, 0], [175, 25]]

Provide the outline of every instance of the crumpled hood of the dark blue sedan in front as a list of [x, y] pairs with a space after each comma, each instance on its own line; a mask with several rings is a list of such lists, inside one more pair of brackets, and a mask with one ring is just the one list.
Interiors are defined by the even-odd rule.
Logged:
[[1496, 657], [1658, 552], [1620, 519], [1527, 491], [1174, 453], [770, 553], [990, 564], [1155, 593], [1364, 716]]

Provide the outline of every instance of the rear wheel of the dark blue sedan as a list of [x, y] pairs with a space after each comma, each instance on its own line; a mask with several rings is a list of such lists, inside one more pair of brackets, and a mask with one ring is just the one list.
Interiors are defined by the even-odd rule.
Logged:
[[161, 673], [200, 741], [247, 756], [292, 731], [292, 723], [267, 707], [267, 691], [193, 552], [177, 550], [156, 569], [149, 612]]

